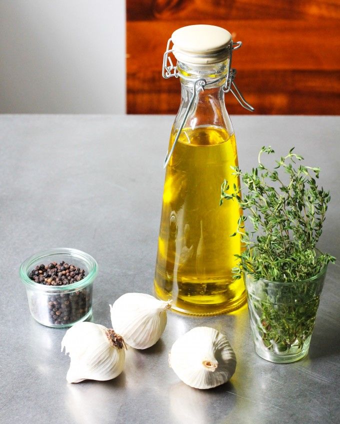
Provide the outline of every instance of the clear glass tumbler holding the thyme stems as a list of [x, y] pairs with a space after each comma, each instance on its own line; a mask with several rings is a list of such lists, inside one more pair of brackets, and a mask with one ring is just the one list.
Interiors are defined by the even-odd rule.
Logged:
[[309, 350], [327, 265], [305, 280], [254, 280], [245, 273], [256, 353], [270, 362], [302, 359]]

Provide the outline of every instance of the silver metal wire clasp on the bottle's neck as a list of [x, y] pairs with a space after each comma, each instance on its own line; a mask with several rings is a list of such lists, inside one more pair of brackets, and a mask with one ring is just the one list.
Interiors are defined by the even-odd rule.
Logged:
[[[175, 51], [174, 48], [169, 48], [170, 47], [170, 42], [171, 42], [171, 38], [169, 38], [167, 40], [166, 50], [165, 50], [165, 52], [163, 54], [162, 77], [165, 78], [165, 79], [171, 78], [172, 76], [174, 76], [175, 78], [178, 78], [177, 67], [176, 67], [176, 65], [174, 65], [172, 63], [171, 57], [169, 56], [170, 53], [173, 53]], [[236, 75], [236, 69], [234, 69], [234, 68], [231, 67], [232, 51], [233, 50], [237, 50], [241, 46], [242, 46], [242, 41], [235, 41], [235, 42], [234, 41], [230, 41], [230, 44], [228, 45], [228, 50], [229, 50], [228, 71], [227, 71], [227, 74], [226, 74], [226, 77], [225, 77], [225, 83], [224, 83], [224, 85], [222, 87], [222, 90], [225, 93], [231, 91], [232, 94], [236, 97], [236, 100], [239, 102], [239, 104], [242, 107], [244, 107], [245, 109], [249, 110], [250, 112], [253, 112], [255, 109], [251, 106], [251, 104], [249, 104], [245, 100], [245, 98], [243, 97], [242, 93], [239, 91], [237, 85], [234, 82], [234, 78], [235, 78], [235, 75]], [[217, 52], [215, 54], [219, 54], [219, 52]], [[206, 56], [207, 57], [211, 57], [212, 55], [213, 54], [207, 54]], [[191, 57], [204, 57], [201, 54], [199, 54], [199, 55], [190, 54], [190, 56]], [[204, 90], [204, 87], [206, 85], [211, 85], [211, 84], [214, 84], [214, 83], [218, 82], [221, 78], [224, 78], [224, 76], [223, 77], [219, 77], [217, 79], [209, 80], [209, 82], [207, 82], [204, 78], [198, 78], [196, 80], [192, 80], [191, 78], [188, 78], [188, 79], [190, 79], [190, 81], [193, 82], [192, 95], [190, 97], [189, 104], [188, 104], [188, 106], [186, 108], [186, 111], [185, 111], [185, 114], [183, 116], [183, 119], [182, 119], [182, 121], [181, 121], [181, 123], [179, 125], [178, 131], [177, 131], [176, 137], [175, 137], [175, 139], [173, 141], [173, 144], [171, 146], [171, 149], [170, 149], [170, 151], [168, 151], [166, 153], [166, 156], [165, 156], [165, 159], [164, 159], [164, 164], [163, 164], [163, 167], [164, 168], [166, 167], [166, 165], [168, 164], [168, 162], [170, 160], [170, 157], [172, 155], [174, 146], [176, 145], [176, 143], [178, 141], [180, 132], [181, 132], [181, 130], [182, 130], [184, 124], [185, 124], [186, 118], [187, 118], [187, 116], [188, 116], [188, 114], [189, 114], [189, 112], [191, 110], [191, 106], [192, 106], [192, 103], [193, 103], [193, 101], [195, 99], [195, 96], [196, 96], [197, 92], [199, 92], [200, 90]]]

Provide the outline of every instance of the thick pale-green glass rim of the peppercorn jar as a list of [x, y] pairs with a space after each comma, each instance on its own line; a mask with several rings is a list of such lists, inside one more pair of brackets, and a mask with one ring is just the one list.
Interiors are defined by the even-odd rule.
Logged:
[[[33, 280], [31, 280], [28, 277], [29, 268], [33, 265], [34, 262], [38, 261], [39, 259], [43, 259], [48, 256], [57, 255], [57, 254], [65, 254], [69, 255], [70, 257], [75, 257], [76, 259], [80, 259], [82, 262], [84, 262], [89, 269], [88, 274], [81, 279], [80, 281], [72, 282], [71, 284], [65, 284], [65, 285], [45, 285], [45, 284], [39, 284]], [[20, 265], [19, 268], [19, 276], [21, 281], [34, 289], [45, 291], [45, 292], [55, 292], [55, 291], [63, 291], [63, 290], [79, 290], [83, 287], [86, 287], [90, 283], [93, 282], [94, 278], [96, 277], [98, 273], [98, 264], [96, 260], [89, 255], [88, 253], [85, 253], [82, 250], [73, 249], [70, 247], [55, 247], [48, 250], [42, 250], [39, 251], [29, 257], [27, 257]]]

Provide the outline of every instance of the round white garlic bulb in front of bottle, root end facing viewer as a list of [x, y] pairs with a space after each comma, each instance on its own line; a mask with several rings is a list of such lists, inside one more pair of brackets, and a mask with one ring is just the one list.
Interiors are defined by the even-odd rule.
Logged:
[[185, 384], [211, 388], [235, 372], [236, 356], [225, 335], [210, 327], [195, 327], [172, 345], [169, 364]]

